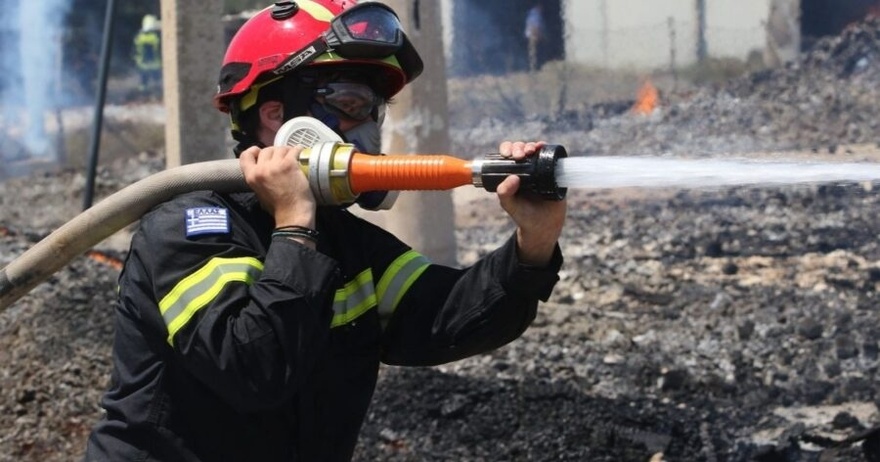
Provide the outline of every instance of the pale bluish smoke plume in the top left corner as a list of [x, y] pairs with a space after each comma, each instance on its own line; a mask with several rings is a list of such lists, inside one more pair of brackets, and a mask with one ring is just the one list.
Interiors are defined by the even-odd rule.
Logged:
[[[46, 120], [60, 107], [64, 19], [71, 0], [0, 0], [0, 136], [21, 137], [25, 154], [53, 155]], [[0, 152], [0, 157], [22, 153]]]

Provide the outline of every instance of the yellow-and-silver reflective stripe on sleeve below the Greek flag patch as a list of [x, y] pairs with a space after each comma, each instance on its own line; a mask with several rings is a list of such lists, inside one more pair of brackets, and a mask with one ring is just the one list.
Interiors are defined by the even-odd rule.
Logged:
[[250, 285], [263, 272], [263, 263], [253, 257], [212, 258], [205, 266], [177, 283], [159, 301], [159, 312], [168, 326], [168, 343], [202, 308], [211, 303], [230, 282]]

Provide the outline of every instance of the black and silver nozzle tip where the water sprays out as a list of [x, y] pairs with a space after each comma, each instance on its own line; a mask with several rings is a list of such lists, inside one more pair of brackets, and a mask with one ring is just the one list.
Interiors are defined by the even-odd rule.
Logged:
[[560, 188], [556, 183], [556, 160], [563, 157], [568, 157], [565, 148], [553, 144], [544, 145], [537, 154], [522, 161], [489, 154], [473, 163], [474, 186], [495, 192], [505, 178], [516, 175], [520, 177], [520, 191], [559, 201], [568, 192], [568, 188]]

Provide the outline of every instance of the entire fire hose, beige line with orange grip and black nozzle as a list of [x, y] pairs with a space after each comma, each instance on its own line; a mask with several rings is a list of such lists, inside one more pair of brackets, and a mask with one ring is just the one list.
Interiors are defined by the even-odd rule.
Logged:
[[[567, 156], [559, 145], [514, 161], [497, 154], [464, 160], [449, 155], [370, 155], [341, 142], [319, 142], [300, 155], [319, 205], [349, 205], [364, 192], [448, 190], [473, 185], [494, 192], [509, 175], [521, 190], [561, 200], [556, 162]], [[156, 205], [190, 191], [249, 191], [238, 160], [199, 162], [171, 168], [133, 183], [80, 213], [0, 270], [0, 311], [64, 267], [74, 257], [137, 221]]]

